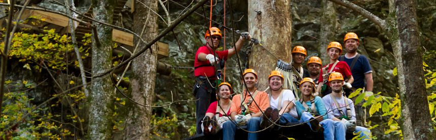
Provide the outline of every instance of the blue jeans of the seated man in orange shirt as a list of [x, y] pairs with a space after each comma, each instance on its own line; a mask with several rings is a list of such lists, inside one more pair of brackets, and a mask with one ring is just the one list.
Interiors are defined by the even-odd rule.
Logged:
[[[226, 121], [223, 124], [223, 139], [235, 139], [236, 122]], [[261, 125], [261, 118], [251, 117], [247, 122], [248, 131], [258, 131]], [[248, 133], [248, 139], [258, 139], [258, 133]]]

